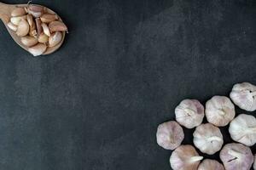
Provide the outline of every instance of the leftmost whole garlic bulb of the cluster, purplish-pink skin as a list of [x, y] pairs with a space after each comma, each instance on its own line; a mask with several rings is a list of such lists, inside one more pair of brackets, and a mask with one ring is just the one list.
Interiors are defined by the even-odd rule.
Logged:
[[184, 139], [183, 128], [174, 121], [164, 122], [157, 128], [156, 139], [164, 149], [174, 150]]

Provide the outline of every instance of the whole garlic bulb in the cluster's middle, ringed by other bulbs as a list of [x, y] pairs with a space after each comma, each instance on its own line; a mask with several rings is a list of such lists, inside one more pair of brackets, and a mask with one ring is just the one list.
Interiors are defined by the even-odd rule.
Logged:
[[208, 155], [215, 154], [224, 143], [219, 128], [211, 123], [201, 124], [196, 127], [193, 136], [195, 147]]

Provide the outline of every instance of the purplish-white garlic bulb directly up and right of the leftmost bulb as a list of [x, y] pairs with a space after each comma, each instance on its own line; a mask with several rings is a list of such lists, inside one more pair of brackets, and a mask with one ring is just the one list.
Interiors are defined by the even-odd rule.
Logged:
[[205, 116], [204, 107], [197, 99], [184, 99], [175, 109], [176, 120], [187, 128], [197, 127]]

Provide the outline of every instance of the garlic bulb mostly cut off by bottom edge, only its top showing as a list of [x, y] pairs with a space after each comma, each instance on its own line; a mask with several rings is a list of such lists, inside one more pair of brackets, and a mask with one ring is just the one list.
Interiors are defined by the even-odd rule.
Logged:
[[223, 165], [218, 161], [206, 159], [201, 162], [198, 170], [225, 170]]

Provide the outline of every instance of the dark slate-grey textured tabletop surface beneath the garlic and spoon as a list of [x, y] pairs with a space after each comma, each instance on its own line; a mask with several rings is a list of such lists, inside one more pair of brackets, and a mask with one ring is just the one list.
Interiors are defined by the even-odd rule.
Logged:
[[34, 58], [0, 25], [1, 170], [170, 169], [155, 132], [182, 99], [256, 84], [253, 0], [33, 3], [58, 12], [70, 33], [58, 52]]

